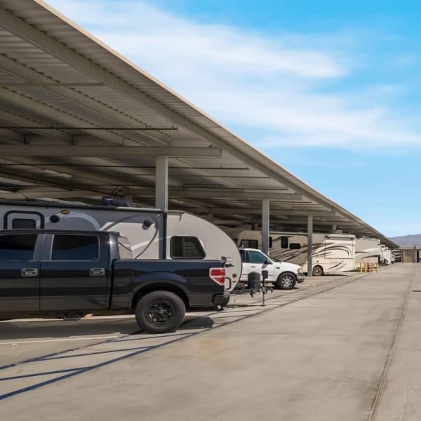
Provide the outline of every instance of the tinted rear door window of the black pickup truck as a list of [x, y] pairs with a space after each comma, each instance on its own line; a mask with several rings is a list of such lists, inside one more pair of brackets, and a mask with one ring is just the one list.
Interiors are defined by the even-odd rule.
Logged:
[[51, 260], [98, 260], [97, 236], [55, 234]]

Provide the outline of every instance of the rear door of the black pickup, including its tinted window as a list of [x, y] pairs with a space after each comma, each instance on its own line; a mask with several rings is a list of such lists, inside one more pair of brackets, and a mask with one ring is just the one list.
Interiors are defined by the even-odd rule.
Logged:
[[47, 234], [41, 261], [40, 309], [106, 307], [109, 257], [106, 234]]

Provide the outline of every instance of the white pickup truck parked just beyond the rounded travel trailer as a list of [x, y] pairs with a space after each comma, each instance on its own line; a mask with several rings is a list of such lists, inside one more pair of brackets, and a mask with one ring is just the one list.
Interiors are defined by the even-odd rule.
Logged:
[[281, 289], [292, 289], [295, 283], [304, 282], [304, 272], [299, 265], [269, 258], [256, 248], [240, 248], [240, 255], [243, 262], [241, 282], [247, 282], [250, 272], [258, 272], [261, 275], [262, 270], [267, 270], [267, 281]]

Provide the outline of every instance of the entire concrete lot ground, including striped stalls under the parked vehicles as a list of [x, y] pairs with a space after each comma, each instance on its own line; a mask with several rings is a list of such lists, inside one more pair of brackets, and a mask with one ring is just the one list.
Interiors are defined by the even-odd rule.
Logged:
[[420, 275], [306, 279], [167, 335], [131, 316], [1, 322], [2, 418], [418, 421]]

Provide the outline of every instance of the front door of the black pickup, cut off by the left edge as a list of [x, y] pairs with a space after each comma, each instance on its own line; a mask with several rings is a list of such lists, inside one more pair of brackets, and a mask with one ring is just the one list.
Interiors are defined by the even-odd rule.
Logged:
[[[44, 239], [41, 234], [39, 241]], [[39, 311], [36, 234], [0, 234], [0, 312]]]

